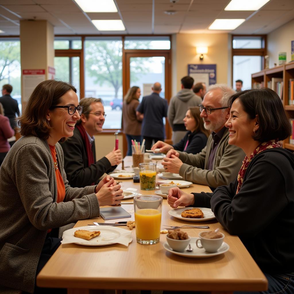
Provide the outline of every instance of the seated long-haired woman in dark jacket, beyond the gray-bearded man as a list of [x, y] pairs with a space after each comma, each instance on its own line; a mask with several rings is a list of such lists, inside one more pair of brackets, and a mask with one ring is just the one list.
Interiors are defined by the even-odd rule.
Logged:
[[206, 146], [207, 138], [210, 135], [209, 131], [204, 128], [199, 107], [190, 107], [183, 121], [188, 132], [179, 143], [169, 145], [163, 141], [157, 141], [151, 150], [160, 148], [159, 152], [162, 153], [166, 153], [171, 149], [193, 154], [199, 153]]

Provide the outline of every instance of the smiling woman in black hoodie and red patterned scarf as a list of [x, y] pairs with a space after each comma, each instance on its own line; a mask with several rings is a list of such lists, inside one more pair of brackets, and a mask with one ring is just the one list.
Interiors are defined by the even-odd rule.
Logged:
[[290, 136], [290, 123], [279, 96], [268, 88], [238, 92], [229, 105], [228, 143], [246, 154], [238, 177], [213, 193], [172, 188], [168, 204], [211, 207], [267, 277], [268, 291], [259, 293], [293, 294], [294, 155], [279, 142]]

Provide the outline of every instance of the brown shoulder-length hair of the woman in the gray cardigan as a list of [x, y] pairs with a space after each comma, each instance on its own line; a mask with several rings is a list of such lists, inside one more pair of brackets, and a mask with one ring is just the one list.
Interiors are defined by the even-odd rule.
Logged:
[[47, 112], [51, 106], [60, 102], [61, 96], [70, 90], [76, 93], [74, 86], [61, 81], [47, 80], [39, 83], [31, 93], [22, 116], [19, 117], [21, 135], [48, 139], [51, 127], [46, 119]]

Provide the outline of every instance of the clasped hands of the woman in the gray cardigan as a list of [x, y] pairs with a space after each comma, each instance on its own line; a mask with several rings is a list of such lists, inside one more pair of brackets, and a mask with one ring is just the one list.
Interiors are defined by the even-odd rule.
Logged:
[[121, 199], [123, 199], [123, 190], [121, 189], [121, 185], [116, 184], [114, 182], [114, 179], [111, 178], [106, 184], [104, 184], [100, 188], [99, 192], [96, 193], [96, 197], [99, 201], [99, 206], [114, 205], [121, 203]]

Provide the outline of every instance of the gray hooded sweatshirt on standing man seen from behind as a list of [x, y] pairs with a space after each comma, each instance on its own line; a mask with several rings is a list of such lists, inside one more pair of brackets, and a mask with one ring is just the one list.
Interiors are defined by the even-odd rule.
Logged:
[[173, 131], [186, 131], [183, 119], [188, 108], [201, 103], [201, 97], [195, 95], [190, 89], [182, 89], [176, 96], [173, 96], [168, 106], [168, 121]]

